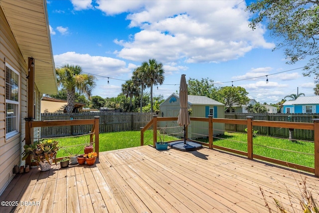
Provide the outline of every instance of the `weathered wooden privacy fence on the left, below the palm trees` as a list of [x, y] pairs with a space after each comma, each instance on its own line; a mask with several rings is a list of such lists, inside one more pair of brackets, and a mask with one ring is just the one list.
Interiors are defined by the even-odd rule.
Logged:
[[[94, 116], [100, 117], [100, 133], [138, 131], [145, 126], [155, 113], [106, 113], [106, 112], [87, 112], [87, 113], [42, 113], [41, 121], [48, 120], [79, 120], [92, 119]], [[53, 126], [41, 127], [41, 137], [64, 137], [72, 135], [87, 134], [91, 131], [90, 125], [77, 126]]]

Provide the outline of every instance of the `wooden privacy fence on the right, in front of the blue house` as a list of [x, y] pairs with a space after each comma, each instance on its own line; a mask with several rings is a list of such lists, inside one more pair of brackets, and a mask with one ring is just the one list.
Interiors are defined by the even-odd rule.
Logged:
[[[227, 119], [246, 119], [247, 116], [253, 116], [254, 120], [262, 121], [287, 121], [298, 123], [313, 123], [313, 119], [319, 118], [319, 114], [268, 114], [268, 113], [225, 113]], [[247, 127], [241, 124], [225, 124], [225, 131], [229, 132], [246, 132]], [[258, 131], [258, 135], [269, 135], [273, 137], [288, 138], [289, 129], [278, 127], [255, 126], [254, 131]], [[295, 129], [293, 137], [299, 140], [314, 140], [314, 131], [306, 129]]]

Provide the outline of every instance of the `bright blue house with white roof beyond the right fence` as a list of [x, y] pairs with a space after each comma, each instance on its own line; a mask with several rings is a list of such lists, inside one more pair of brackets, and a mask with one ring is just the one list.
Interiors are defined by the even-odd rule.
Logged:
[[298, 97], [283, 103], [283, 113], [319, 113], [319, 96]]

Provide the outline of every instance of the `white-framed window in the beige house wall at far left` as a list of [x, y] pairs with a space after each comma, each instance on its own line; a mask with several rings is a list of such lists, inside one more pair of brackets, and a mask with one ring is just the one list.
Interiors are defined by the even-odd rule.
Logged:
[[[14, 74], [17, 75], [17, 78], [18, 78], [18, 85], [17, 85], [17, 91], [18, 91], [18, 100], [17, 101], [13, 101], [13, 100], [9, 100], [7, 99], [6, 97], [6, 88], [8, 85], [10, 85], [9, 83], [7, 83], [6, 81], [6, 76], [5, 76], [5, 138], [8, 139], [16, 134], [19, 134], [20, 133], [20, 105], [21, 105], [21, 98], [20, 98], [20, 95], [21, 95], [21, 92], [20, 92], [20, 88], [21, 88], [21, 80], [20, 80], [20, 73], [18, 71], [16, 71], [12, 66], [10, 66], [10, 64], [8, 63], [5, 63], [5, 75], [6, 75], [6, 69], [9, 69], [10, 72], [13, 72]], [[7, 116], [7, 104], [13, 104], [15, 106], [15, 111], [16, 111], [16, 115], [13, 115], [14, 117], [14, 130], [11, 131], [11, 132], [7, 132], [7, 119], [8, 119], [8, 116]]]

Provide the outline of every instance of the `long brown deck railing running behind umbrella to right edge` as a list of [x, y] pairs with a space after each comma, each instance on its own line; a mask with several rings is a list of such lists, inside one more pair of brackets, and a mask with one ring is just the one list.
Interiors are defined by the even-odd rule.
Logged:
[[[157, 142], [157, 128], [158, 128], [157, 123], [160, 121], [177, 121], [177, 117], [157, 117], [156, 115], [154, 115], [153, 119], [141, 130], [141, 146], [144, 145], [144, 132], [153, 126], [153, 146], [155, 147], [155, 143]], [[211, 116], [209, 116], [208, 118], [190, 117], [190, 121], [208, 122], [208, 148], [209, 149], [224, 150], [227, 152], [232, 152], [235, 154], [247, 156], [248, 159], [259, 159], [259, 160], [267, 161], [274, 164], [289, 166], [291, 168], [296, 168], [299, 170], [314, 173], [315, 176], [319, 177], [319, 119], [313, 119], [314, 121], [313, 123], [299, 123], [299, 122], [284, 122], [284, 121], [253, 120], [252, 116], [246, 117], [246, 120], [212, 118]], [[247, 126], [247, 152], [233, 150], [233, 149], [214, 145], [213, 144], [214, 123], [246, 125]], [[302, 165], [298, 165], [294, 163], [288, 163], [285, 161], [254, 154], [253, 153], [253, 126], [314, 130], [315, 167], [314, 168], [306, 167], [306, 166], [302, 166]], [[187, 132], [187, 127], [186, 127], [186, 132]], [[198, 142], [198, 143], [201, 143], [202, 145], [207, 146], [207, 143], [202, 143], [202, 142]]]

